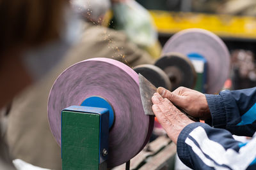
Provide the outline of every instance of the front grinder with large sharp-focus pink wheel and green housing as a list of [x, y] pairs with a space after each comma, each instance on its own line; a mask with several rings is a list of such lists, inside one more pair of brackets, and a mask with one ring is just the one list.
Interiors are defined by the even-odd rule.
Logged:
[[48, 118], [63, 169], [128, 162], [147, 144], [154, 125], [143, 111], [138, 74], [106, 58], [78, 62], [60, 74], [49, 95]]

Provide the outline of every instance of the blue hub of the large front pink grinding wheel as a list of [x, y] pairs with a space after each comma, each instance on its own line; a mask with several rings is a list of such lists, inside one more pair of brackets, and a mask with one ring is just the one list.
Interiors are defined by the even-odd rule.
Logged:
[[106, 99], [99, 96], [88, 97], [83, 101], [81, 106], [90, 106], [90, 107], [108, 109], [109, 110], [109, 129], [112, 127], [115, 120], [114, 110], [111, 104], [109, 104]]

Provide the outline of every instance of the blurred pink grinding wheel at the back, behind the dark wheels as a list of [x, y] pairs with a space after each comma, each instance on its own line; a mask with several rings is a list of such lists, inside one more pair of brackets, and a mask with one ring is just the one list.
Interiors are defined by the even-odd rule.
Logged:
[[186, 29], [174, 34], [163, 47], [163, 53], [198, 53], [207, 60], [207, 88], [216, 94], [223, 88], [230, 72], [230, 53], [223, 41], [204, 29]]

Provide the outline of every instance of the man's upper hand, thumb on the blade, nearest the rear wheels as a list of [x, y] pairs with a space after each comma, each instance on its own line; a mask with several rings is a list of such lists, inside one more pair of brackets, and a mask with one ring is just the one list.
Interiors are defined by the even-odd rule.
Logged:
[[193, 117], [198, 117], [201, 120], [211, 118], [206, 97], [201, 92], [186, 87], [179, 87], [173, 92], [159, 87], [157, 92]]

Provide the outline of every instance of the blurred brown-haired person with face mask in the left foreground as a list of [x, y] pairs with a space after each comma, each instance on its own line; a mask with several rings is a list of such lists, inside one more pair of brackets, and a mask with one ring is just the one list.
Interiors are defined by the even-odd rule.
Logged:
[[[4, 107], [13, 97], [40, 80], [61, 58], [62, 55], [51, 58], [36, 52], [51, 50], [60, 54], [62, 46], [67, 48], [65, 13], [65, 0], [0, 1], [0, 113], [8, 111]], [[2, 122], [2, 115], [0, 118]], [[0, 169], [13, 169], [3, 129], [1, 125]]]

